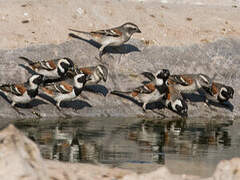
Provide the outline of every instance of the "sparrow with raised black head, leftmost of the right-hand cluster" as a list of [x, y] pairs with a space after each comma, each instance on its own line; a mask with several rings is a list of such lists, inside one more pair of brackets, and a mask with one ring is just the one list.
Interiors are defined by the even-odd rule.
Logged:
[[168, 69], [162, 69], [155, 75], [155, 79], [152, 82], [146, 83], [142, 86], [136, 87], [129, 91], [112, 91], [111, 94], [130, 95], [136, 100], [143, 103], [143, 111], [146, 111], [146, 105], [151, 102], [160, 100], [167, 92], [166, 81], [170, 75]]

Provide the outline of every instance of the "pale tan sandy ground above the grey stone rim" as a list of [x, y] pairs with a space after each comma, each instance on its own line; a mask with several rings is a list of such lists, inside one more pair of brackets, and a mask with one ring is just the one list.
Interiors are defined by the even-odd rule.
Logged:
[[99, 30], [131, 21], [134, 38], [160, 46], [239, 37], [239, 0], [0, 0], [0, 49], [59, 44], [68, 28]]

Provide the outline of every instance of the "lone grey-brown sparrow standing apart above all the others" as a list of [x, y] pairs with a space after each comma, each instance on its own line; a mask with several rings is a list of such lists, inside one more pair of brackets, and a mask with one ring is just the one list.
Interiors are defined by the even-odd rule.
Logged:
[[137, 25], [127, 22], [121, 26], [114, 27], [106, 30], [98, 30], [92, 32], [84, 32], [74, 29], [69, 29], [70, 31], [83, 33], [90, 35], [91, 38], [101, 44], [99, 49], [99, 58], [102, 60], [103, 50], [107, 46], [120, 46], [127, 42], [134, 33], [141, 33]]

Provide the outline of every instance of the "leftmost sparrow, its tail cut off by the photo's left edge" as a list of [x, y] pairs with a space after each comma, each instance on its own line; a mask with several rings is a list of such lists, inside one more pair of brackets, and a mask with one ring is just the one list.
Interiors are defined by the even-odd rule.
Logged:
[[29, 103], [38, 95], [38, 87], [44, 81], [44, 76], [32, 75], [25, 83], [2, 84], [0, 91], [3, 92], [12, 102], [11, 106], [20, 113], [15, 105], [18, 103]]

